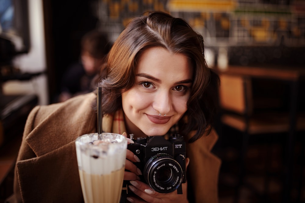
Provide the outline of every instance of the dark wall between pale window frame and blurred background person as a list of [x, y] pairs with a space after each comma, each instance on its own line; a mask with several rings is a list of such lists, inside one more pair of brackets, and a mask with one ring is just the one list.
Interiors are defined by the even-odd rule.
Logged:
[[93, 1], [43, 0], [50, 103], [56, 102], [64, 71], [79, 58], [81, 37], [96, 27]]

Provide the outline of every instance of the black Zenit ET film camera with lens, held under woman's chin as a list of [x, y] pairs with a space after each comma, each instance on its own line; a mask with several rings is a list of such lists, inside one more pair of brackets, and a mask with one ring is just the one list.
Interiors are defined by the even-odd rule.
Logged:
[[127, 149], [141, 161], [134, 164], [142, 171], [142, 182], [159, 193], [170, 193], [178, 189], [178, 194], [179, 191], [182, 194], [179, 186], [186, 182], [183, 136], [174, 134], [169, 140], [163, 136], [140, 137], [134, 144], [127, 145]]

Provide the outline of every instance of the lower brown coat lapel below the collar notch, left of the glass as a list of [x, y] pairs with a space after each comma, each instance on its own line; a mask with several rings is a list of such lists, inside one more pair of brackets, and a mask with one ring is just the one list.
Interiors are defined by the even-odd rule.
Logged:
[[18, 161], [16, 171], [23, 202], [83, 202], [73, 141], [40, 157]]

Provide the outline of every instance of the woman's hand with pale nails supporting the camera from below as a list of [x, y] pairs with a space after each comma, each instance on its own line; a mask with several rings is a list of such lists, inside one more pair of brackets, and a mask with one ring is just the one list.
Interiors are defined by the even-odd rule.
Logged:
[[[188, 166], [189, 158], [186, 158], [186, 166]], [[129, 196], [127, 200], [131, 203], [169, 203], [169, 202], [188, 202], [187, 199], [187, 183], [182, 183], [183, 194], [177, 194], [177, 190], [171, 193], [158, 193], [148, 185], [141, 181], [130, 181], [129, 189], [138, 197]]]

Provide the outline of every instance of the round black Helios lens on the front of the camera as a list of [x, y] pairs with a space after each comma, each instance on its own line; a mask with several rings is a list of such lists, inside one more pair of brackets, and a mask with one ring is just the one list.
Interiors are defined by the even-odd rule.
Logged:
[[159, 193], [175, 191], [183, 179], [180, 164], [165, 153], [150, 157], [143, 172], [145, 181]]

